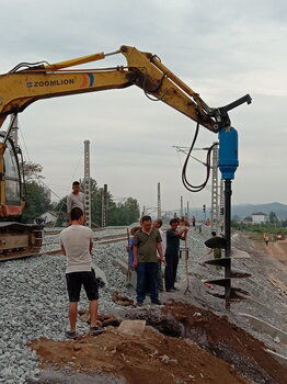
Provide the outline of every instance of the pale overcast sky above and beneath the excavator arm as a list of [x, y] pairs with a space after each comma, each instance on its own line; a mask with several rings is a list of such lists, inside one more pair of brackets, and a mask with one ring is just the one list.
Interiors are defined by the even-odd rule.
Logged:
[[[287, 203], [287, 2], [285, 0], [1, 0], [0, 71], [20, 61], [60, 61], [120, 45], [160, 56], [211, 106], [245, 93], [253, 103], [230, 113], [239, 131], [240, 168], [234, 203]], [[91, 67], [125, 64], [115, 56]], [[163, 210], [209, 205], [208, 191], [185, 191], [184, 156], [195, 123], [136, 87], [38, 101], [19, 115], [32, 161], [46, 183], [67, 194], [83, 176], [83, 140], [91, 142], [91, 173], [115, 197], [131, 195], [156, 206], [162, 184]], [[20, 136], [22, 140], [22, 135]], [[202, 128], [197, 147], [216, 135]], [[23, 140], [22, 140], [23, 143]], [[198, 154], [197, 154], [198, 155]], [[202, 181], [204, 169], [190, 174]]]

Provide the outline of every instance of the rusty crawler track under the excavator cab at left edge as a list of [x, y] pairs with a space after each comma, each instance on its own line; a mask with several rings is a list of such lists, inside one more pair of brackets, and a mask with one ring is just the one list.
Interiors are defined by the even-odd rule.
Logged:
[[38, 256], [42, 228], [35, 224], [0, 223], [0, 261]]

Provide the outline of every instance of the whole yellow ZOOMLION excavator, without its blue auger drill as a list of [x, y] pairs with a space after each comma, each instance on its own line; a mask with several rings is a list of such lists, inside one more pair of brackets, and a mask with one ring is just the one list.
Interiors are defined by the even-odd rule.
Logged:
[[[122, 54], [126, 66], [79, 69], [79, 65]], [[76, 67], [76, 69], [70, 69]], [[213, 133], [230, 131], [228, 111], [248, 102], [245, 95], [221, 108], [208, 106], [198, 93], [167, 68], [157, 55], [123, 45], [112, 53], [97, 53], [56, 64], [20, 63], [0, 75], [0, 260], [34, 256], [42, 246], [37, 225], [21, 223], [25, 202], [23, 180], [11, 129], [18, 113], [37, 100], [137, 86], [146, 97], [160, 100]], [[12, 115], [5, 132], [1, 127]]]

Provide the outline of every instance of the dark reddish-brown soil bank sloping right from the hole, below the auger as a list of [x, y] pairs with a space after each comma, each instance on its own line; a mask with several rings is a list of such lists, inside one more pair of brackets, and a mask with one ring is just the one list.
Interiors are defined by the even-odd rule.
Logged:
[[182, 325], [183, 337], [232, 364], [255, 383], [286, 383], [286, 369], [265, 351], [263, 342], [229, 323], [226, 316], [173, 301], [162, 313]]

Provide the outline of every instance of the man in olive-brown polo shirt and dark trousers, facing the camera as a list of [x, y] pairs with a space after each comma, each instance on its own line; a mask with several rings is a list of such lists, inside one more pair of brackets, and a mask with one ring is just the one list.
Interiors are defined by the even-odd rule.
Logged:
[[137, 270], [137, 305], [141, 306], [147, 293], [152, 304], [161, 305], [158, 292], [158, 252], [164, 261], [162, 239], [158, 229], [152, 228], [150, 216], [141, 218], [141, 228], [134, 237], [134, 268]]

